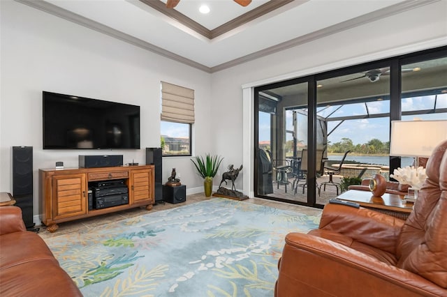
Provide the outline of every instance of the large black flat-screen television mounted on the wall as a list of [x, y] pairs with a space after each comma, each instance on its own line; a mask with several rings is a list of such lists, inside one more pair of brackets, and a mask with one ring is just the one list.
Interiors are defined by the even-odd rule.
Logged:
[[140, 107], [43, 91], [43, 148], [140, 148]]

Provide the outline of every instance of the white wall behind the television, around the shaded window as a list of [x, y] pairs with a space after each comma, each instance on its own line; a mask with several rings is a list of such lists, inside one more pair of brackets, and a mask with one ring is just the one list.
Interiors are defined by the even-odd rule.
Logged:
[[[34, 149], [34, 215], [42, 212], [38, 169], [78, 167], [78, 155], [122, 154], [145, 164], [145, 148], [160, 146], [160, 81], [195, 90], [195, 151], [211, 151], [211, 76], [139, 47], [17, 3], [1, 1], [0, 191], [12, 192], [11, 146]], [[42, 91], [140, 105], [140, 150], [43, 150]], [[189, 190], [203, 181], [186, 158], [163, 158]]]

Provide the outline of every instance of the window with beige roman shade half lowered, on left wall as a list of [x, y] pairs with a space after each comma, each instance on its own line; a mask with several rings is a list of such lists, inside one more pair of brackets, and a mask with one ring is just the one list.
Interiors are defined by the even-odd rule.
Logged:
[[163, 156], [191, 155], [194, 90], [161, 82], [161, 151]]

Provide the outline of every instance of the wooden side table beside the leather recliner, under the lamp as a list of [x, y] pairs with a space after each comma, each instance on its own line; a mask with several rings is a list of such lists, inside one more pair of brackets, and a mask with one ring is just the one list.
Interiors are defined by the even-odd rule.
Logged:
[[365, 208], [373, 209], [395, 218], [406, 220], [413, 211], [413, 204], [404, 202], [404, 196], [385, 193], [382, 197], [374, 197], [372, 192], [362, 190], [348, 190], [338, 199], [353, 201]]

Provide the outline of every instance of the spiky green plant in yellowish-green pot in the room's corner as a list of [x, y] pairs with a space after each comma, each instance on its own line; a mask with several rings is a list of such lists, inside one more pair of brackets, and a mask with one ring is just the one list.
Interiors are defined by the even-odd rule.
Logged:
[[217, 169], [221, 165], [223, 158], [217, 155], [210, 155], [207, 153], [205, 159], [201, 156], [196, 155], [196, 157], [191, 159], [194, 166], [196, 166], [198, 175], [203, 178], [203, 187], [205, 188], [205, 196], [210, 197], [212, 192], [212, 178], [216, 176]]

